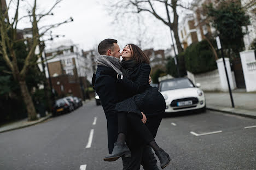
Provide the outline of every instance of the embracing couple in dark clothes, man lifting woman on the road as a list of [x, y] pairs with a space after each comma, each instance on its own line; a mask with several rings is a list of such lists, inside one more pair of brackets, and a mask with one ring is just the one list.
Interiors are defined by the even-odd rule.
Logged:
[[164, 169], [171, 159], [154, 139], [165, 112], [164, 97], [149, 85], [148, 56], [134, 44], [120, 53], [117, 43], [105, 39], [98, 45], [98, 68], [92, 78], [107, 119], [109, 155], [104, 161], [121, 157], [125, 170], [139, 170], [140, 165], [156, 170], [153, 149]]

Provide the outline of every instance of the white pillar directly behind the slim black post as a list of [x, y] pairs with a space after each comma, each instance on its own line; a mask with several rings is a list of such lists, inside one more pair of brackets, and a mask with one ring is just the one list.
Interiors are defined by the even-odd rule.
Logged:
[[[226, 80], [226, 73], [225, 73], [223, 59], [220, 58], [216, 62], [217, 62], [218, 71], [219, 71], [220, 85], [222, 87], [222, 90], [224, 92], [226, 92], [229, 90], [229, 86], [228, 86], [228, 81]], [[229, 76], [230, 88], [231, 88], [231, 90], [233, 90], [235, 88], [235, 86], [234, 86], [234, 81], [232, 78], [232, 72], [231, 72], [231, 68], [230, 68], [229, 58], [225, 58], [225, 64], [226, 64], [226, 71], [228, 72], [228, 76]]]

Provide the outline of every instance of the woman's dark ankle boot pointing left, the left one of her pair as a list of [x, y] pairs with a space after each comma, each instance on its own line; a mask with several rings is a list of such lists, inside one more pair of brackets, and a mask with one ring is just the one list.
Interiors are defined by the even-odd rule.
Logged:
[[131, 151], [124, 142], [115, 142], [112, 154], [104, 157], [104, 161], [116, 161], [119, 157], [131, 157]]

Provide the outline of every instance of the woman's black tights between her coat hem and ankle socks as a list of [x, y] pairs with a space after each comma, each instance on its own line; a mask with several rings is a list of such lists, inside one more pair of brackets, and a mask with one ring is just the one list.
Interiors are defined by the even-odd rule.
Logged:
[[129, 112], [118, 113], [118, 133], [124, 133], [127, 136], [128, 123], [130, 123], [130, 128], [133, 132], [139, 135], [146, 144], [154, 141], [152, 133], [149, 131], [148, 127], [143, 124], [138, 114]]

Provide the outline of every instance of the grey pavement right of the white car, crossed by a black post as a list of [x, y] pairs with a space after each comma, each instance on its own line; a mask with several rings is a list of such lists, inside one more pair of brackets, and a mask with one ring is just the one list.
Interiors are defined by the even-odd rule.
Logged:
[[256, 93], [246, 93], [242, 90], [232, 92], [235, 108], [232, 108], [229, 93], [205, 93], [206, 108], [239, 116], [256, 118]]

